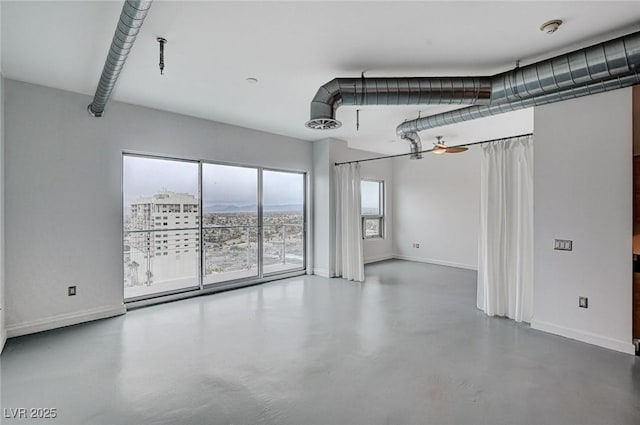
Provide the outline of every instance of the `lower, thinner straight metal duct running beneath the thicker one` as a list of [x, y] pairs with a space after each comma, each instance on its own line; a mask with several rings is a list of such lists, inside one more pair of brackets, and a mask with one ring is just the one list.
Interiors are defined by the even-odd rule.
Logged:
[[562, 100], [575, 99], [577, 97], [588, 96], [591, 94], [603, 93], [610, 90], [629, 87], [634, 84], [640, 84], [640, 73], [638, 71], [625, 76], [614, 77], [606, 81], [582, 84], [553, 93], [533, 96], [509, 103], [470, 106], [468, 108], [418, 118], [398, 125], [396, 133], [400, 138], [405, 139], [406, 134], [416, 134], [417, 131], [421, 130], [428, 130], [431, 128], [441, 127], [443, 125], [457, 124], [477, 118], [489, 117], [492, 115], [502, 114], [504, 112], [517, 111], [519, 109], [530, 108], [532, 106], [546, 105], [548, 103], [560, 102]]

